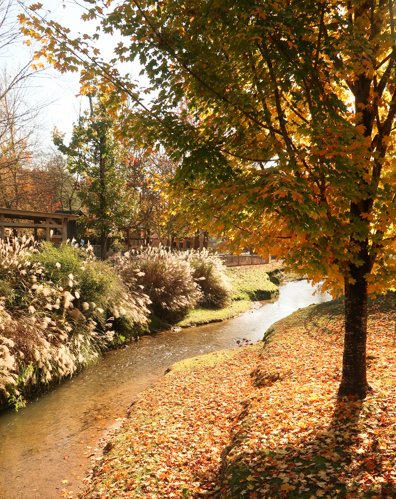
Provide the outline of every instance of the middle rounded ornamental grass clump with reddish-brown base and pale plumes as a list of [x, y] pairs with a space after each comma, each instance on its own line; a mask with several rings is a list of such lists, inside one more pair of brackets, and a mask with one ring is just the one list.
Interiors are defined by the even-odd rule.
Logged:
[[143, 250], [139, 255], [125, 253], [118, 271], [127, 285], [142, 288], [152, 302], [152, 312], [163, 320], [177, 320], [201, 298], [190, 263], [180, 253], [162, 247]]

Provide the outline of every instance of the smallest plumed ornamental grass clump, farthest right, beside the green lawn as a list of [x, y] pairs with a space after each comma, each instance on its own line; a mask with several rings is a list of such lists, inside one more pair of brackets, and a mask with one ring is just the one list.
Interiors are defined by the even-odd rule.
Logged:
[[218, 255], [205, 249], [189, 250], [182, 254], [190, 263], [193, 278], [202, 291], [199, 304], [206, 307], [228, 305], [231, 300], [231, 285]]

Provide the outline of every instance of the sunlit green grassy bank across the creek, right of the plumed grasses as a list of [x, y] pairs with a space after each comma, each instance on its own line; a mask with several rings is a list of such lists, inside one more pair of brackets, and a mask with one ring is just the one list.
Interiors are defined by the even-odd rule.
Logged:
[[231, 303], [224, 308], [194, 308], [176, 325], [179, 327], [191, 327], [231, 319], [247, 312], [252, 301], [276, 298], [279, 289], [270, 280], [268, 272], [274, 276], [277, 275], [280, 272], [281, 265], [281, 263], [275, 262], [266, 265], [227, 267], [225, 273], [232, 286]]

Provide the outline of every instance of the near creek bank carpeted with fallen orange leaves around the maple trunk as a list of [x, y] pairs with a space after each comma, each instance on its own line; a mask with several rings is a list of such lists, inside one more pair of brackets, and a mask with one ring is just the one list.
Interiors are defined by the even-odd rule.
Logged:
[[395, 498], [396, 298], [370, 308], [364, 401], [335, 398], [343, 308], [310, 306], [264, 344], [176, 365], [141, 394], [82, 497]]

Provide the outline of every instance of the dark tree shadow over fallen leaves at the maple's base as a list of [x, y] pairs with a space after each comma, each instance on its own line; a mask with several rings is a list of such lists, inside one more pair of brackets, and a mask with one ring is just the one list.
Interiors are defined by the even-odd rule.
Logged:
[[[228, 484], [225, 482], [224, 486], [223, 481], [221, 497], [396, 497], [395, 480], [390, 475], [395, 463], [385, 463], [387, 458], [378, 440], [363, 432], [363, 423], [369, 422], [365, 430], [370, 433], [372, 415], [366, 410], [362, 413], [362, 404], [362, 400], [353, 397], [337, 401], [330, 423], [316, 425], [310, 431], [302, 424], [298, 431], [301, 436], [293, 445], [268, 440], [264, 441], [264, 449], [229, 452], [224, 460]], [[242, 449], [246, 444], [247, 409], [241, 413], [243, 421], [233, 435], [229, 451], [233, 447]], [[227, 492], [231, 495], [227, 496]]]

